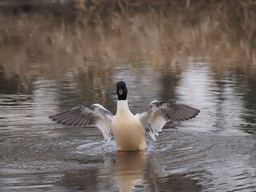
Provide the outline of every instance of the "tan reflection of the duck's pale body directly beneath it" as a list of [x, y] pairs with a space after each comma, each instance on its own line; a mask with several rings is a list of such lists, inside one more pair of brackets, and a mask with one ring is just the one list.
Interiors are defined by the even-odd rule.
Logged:
[[145, 151], [120, 151], [115, 155], [114, 173], [120, 191], [132, 191], [141, 185], [145, 170]]

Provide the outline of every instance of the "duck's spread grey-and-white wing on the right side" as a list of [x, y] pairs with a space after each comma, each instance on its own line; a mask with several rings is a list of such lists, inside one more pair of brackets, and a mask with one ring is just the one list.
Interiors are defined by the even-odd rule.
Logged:
[[144, 129], [155, 141], [154, 135], [158, 135], [162, 131], [166, 122], [188, 120], [194, 118], [199, 112], [200, 110], [194, 107], [177, 104], [173, 100], [169, 100], [168, 102], [150, 102], [150, 105], [137, 115]]

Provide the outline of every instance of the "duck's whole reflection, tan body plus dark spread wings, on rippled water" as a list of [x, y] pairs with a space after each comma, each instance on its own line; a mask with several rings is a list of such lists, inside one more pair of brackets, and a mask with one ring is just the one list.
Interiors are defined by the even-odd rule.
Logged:
[[[82, 155], [83, 156], [83, 155]], [[94, 158], [78, 156], [77, 170], [68, 170], [62, 185], [83, 191], [198, 191], [197, 181], [186, 174], [173, 174], [160, 163], [157, 154], [146, 151], [118, 151]], [[103, 158], [102, 158], [103, 157]], [[78, 167], [78, 166], [75, 166]], [[172, 167], [169, 165], [169, 169]], [[174, 169], [175, 170], [175, 169]], [[193, 175], [194, 173], [192, 173]]]

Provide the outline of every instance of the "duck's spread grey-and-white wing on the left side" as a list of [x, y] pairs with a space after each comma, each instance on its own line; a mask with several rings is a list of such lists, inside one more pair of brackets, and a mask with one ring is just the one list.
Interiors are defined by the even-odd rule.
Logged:
[[111, 139], [110, 124], [113, 114], [99, 104], [88, 107], [75, 106], [60, 114], [50, 115], [49, 118], [68, 126], [97, 126], [106, 140], [110, 141]]

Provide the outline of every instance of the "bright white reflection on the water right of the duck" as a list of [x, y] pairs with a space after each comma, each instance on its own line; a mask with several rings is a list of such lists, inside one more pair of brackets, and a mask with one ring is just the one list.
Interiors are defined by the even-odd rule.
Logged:
[[[222, 135], [242, 134], [241, 127], [247, 124], [242, 119], [242, 93], [245, 91], [239, 87], [236, 87], [239, 91], [235, 90], [232, 78], [232, 74], [226, 73], [222, 80], [216, 81], [211, 77], [207, 63], [201, 62], [192, 63], [182, 73], [177, 86], [178, 98], [190, 101], [191, 105], [196, 103], [202, 109], [202, 115], [210, 115], [210, 119], [202, 118], [199, 122], [208, 125], [204, 130]], [[190, 127], [190, 122], [187, 123]]]

